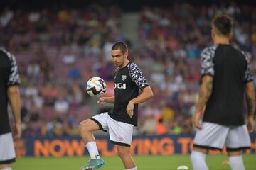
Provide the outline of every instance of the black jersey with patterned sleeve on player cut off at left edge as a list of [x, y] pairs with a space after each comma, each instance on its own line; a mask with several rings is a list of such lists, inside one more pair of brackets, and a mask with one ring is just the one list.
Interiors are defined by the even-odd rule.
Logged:
[[7, 112], [7, 89], [20, 83], [14, 55], [0, 48], [0, 135], [11, 132]]

